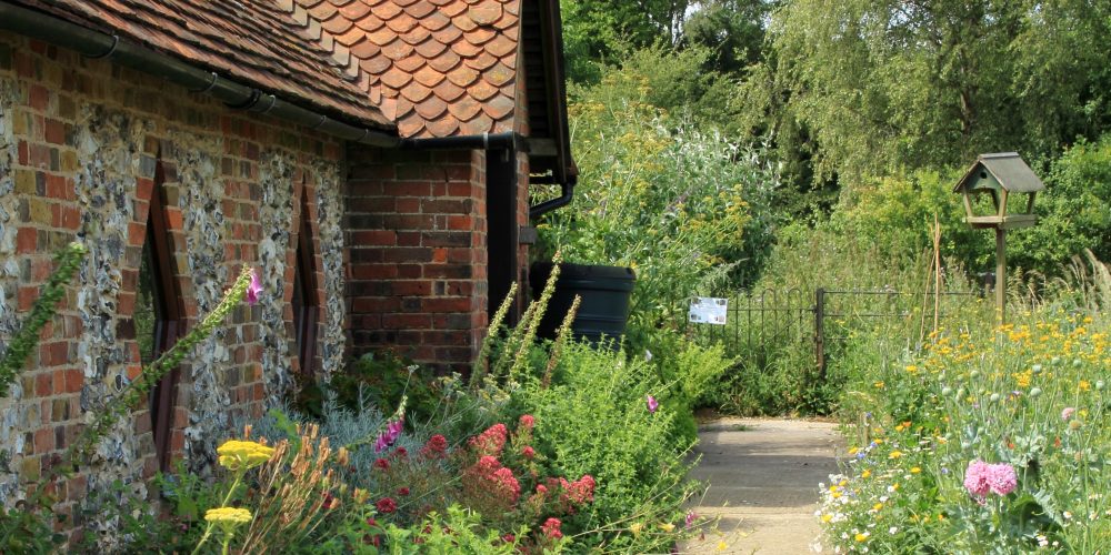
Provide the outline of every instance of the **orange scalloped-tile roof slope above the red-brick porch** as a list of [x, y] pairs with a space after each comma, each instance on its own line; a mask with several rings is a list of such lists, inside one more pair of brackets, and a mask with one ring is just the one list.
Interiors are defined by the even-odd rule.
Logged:
[[293, 1], [358, 60], [401, 137], [513, 130], [521, 0]]

